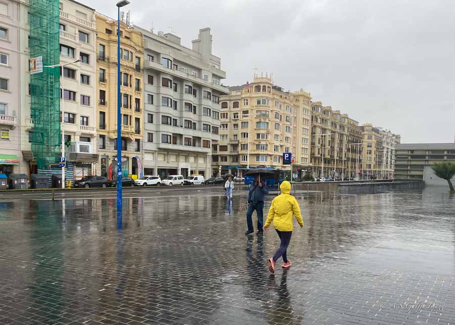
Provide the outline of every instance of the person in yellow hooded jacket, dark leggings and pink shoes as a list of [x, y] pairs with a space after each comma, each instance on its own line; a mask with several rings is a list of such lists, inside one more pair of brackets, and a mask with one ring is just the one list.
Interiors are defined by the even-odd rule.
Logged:
[[274, 257], [267, 260], [268, 269], [272, 273], [275, 273], [275, 262], [277, 262], [281, 256], [283, 256], [282, 267], [285, 268], [291, 266], [291, 261], [288, 260], [286, 250], [288, 249], [289, 242], [291, 241], [293, 215], [295, 215], [300, 227], [303, 227], [300, 206], [295, 197], [289, 194], [291, 192], [291, 183], [285, 180], [281, 183], [280, 190], [281, 194], [272, 201], [272, 205], [270, 210], [268, 210], [267, 220], [264, 225], [265, 231], [273, 220], [275, 229], [277, 230], [278, 236], [280, 236], [281, 240], [280, 248], [275, 252]]

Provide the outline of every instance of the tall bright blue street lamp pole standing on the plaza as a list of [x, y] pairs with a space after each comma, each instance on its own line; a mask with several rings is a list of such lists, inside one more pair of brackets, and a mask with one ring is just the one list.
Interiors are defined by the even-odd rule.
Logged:
[[128, 0], [117, 3], [117, 212], [122, 210], [122, 117], [120, 111], [120, 8]]

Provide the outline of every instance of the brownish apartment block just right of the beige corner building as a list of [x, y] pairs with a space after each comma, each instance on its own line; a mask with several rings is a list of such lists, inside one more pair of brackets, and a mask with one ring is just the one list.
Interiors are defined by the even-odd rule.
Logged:
[[314, 177], [355, 177], [362, 166], [362, 133], [347, 114], [311, 103], [311, 171]]

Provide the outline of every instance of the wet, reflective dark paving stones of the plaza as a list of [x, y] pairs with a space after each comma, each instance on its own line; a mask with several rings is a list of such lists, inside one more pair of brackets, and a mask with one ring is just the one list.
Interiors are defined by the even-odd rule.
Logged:
[[0, 323], [455, 322], [455, 197], [299, 202], [275, 275], [240, 196], [127, 199], [119, 228], [112, 199], [0, 203]]

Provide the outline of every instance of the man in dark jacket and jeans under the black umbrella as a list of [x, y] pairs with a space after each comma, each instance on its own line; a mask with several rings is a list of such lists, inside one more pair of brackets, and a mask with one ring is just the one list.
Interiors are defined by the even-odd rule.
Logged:
[[256, 176], [254, 182], [250, 184], [248, 190], [248, 211], [247, 211], [247, 225], [248, 230], [245, 235], [250, 235], [254, 233], [253, 228], [253, 212], [256, 210], [257, 213], [257, 234], [262, 235], [262, 228], [264, 226], [263, 221], [263, 209], [264, 209], [264, 199], [268, 194], [267, 185], [264, 181], [259, 181], [259, 178]]

